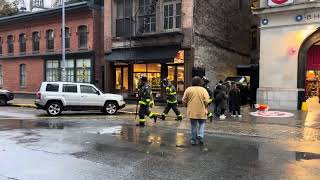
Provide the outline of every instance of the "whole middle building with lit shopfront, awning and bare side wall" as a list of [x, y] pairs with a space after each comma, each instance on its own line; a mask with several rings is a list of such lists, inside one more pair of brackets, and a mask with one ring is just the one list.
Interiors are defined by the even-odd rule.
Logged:
[[108, 90], [129, 96], [145, 74], [157, 95], [164, 77], [182, 94], [194, 67], [213, 84], [250, 63], [251, 1], [158, 0], [148, 14], [151, 2], [104, 1]]

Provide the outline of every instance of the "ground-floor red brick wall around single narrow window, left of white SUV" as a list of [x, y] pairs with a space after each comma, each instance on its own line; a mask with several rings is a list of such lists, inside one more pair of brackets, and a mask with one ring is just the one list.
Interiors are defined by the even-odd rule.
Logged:
[[[20, 64], [26, 65], [25, 87], [20, 87]], [[40, 57], [0, 60], [4, 77], [3, 88], [14, 92], [36, 92], [43, 81], [44, 61]]]

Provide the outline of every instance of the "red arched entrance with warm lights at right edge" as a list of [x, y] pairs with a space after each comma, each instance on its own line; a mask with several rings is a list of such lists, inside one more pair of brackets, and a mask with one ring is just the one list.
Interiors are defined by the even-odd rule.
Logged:
[[317, 44], [308, 51], [306, 96], [309, 111], [320, 111], [320, 45]]

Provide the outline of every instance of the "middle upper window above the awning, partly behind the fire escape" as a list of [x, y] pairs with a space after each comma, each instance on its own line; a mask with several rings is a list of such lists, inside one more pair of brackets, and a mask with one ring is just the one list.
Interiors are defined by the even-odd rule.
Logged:
[[148, 12], [151, 3], [152, 0], [139, 0], [139, 28], [141, 32], [156, 31], [156, 11]]

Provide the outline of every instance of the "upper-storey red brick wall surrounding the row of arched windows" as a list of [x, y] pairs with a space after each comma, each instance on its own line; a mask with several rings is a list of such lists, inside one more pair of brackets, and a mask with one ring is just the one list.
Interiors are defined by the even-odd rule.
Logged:
[[[88, 50], [93, 49], [93, 13], [92, 11], [79, 12], [66, 15], [66, 27], [70, 28], [70, 52], [78, 51], [78, 27], [85, 25], [88, 28]], [[47, 53], [46, 31], [54, 31], [54, 53], [61, 53], [61, 20], [58, 17], [44, 18], [43, 20], [30, 21], [23, 24], [0, 27], [0, 37], [3, 39], [3, 57], [7, 56], [7, 36], [14, 36], [14, 56], [19, 56], [19, 34], [27, 36], [26, 54], [32, 54], [32, 33], [40, 32], [40, 54]]]

